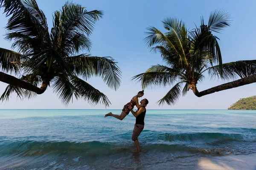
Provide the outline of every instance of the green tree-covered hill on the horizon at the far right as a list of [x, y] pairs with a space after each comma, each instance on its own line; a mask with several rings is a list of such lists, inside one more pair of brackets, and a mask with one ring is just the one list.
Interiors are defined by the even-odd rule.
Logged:
[[229, 110], [256, 110], [256, 96], [239, 99]]

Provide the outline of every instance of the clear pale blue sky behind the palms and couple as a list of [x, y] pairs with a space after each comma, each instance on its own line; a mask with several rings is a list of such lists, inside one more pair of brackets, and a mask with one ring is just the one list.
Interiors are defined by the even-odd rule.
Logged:
[[[66, 0], [37, 0], [39, 8], [47, 17], [49, 29], [52, 27], [52, 14], [59, 10]], [[188, 28], [200, 25], [200, 17], [208, 21], [209, 14], [215, 9], [224, 9], [232, 16], [231, 26], [221, 34], [220, 38], [223, 62], [249, 60], [256, 58], [256, 1], [254, 0], [73, 0], [87, 10], [102, 10], [104, 17], [96, 23], [90, 36], [93, 46], [92, 56], [113, 57], [122, 71], [122, 83], [117, 91], [108, 88], [100, 77], [93, 77], [87, 82], [103, 92], [111, 101], [107, 109], [122, 109], [123, 105], [141, 91], [140, 83], [131, 81], [131, 77], [145, 72], [151, 65], [164, 64], [160, 54], [150, 52], [143, 39], [146, 37], [146, 27], [154, 26], [164, 32], [161, 20], [166, 17], [182, 19]], [[4, 40], [7, 19], [0, 11], [0, 47], [11, 49], [12, 42]], [[81, 51], [82, 53], [82, 51]], [[227, 81], [210, 79], [208, 75], [198, 84], [198, 90], [220, 85]], [[244, 85], [207, 96], [197, 97], [192, 91], [181, 96], [175, 105], [157, 105], [169, 90], [166, 88], [145, 89], [149, 101], [147, 109], [227, 109], [240, 98], [253, 96], [256, 93], [255, 83]], [[0, 82], [0, 94], [7, 84]], [[139, 100], [140, 101], [140, 100]], [[9, 101], [0, 103], [0, 109], [105, 109], [104, 105], [90, 105], [84, 100], [73, 100], [68, 106], [61, 103], [51, 88], [44, 94], [33, 99], [17, 99], [13, 95]]]

